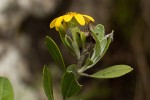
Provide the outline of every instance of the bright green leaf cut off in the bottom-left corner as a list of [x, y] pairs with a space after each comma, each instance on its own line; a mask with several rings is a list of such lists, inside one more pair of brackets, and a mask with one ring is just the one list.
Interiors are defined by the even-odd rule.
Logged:
[[0, 100], [14, 100], [13, 87], [5, 77], [0, 77]]

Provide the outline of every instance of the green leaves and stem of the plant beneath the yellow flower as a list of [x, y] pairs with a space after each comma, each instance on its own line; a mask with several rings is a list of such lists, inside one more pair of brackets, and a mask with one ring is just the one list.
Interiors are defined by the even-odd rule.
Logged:
[[[69, 16], [68, 18], [72, 18], [72, 15], [67, 16]], [[116, 78], [133, 70], [130, 66], [121, 64], [102, 69], [91, 75], [85, 73], [86, 70], [92, 68], [105, 55], [113, 40], [113, 31], [105, 35], [104, 26], [101, 24], [94, 26], [92, 22], [88, 23], [87, 29], [80, 30], [77, 24], [72, 24], [75, 21], [73, 18], [70, 22], [65, 21], [64, 24], [57, 27], [57, 31], [59, 32], [62, 43], [77, 59], [76, 64], [71, 64], [66, 67], [60, 52], [61, 50], [59, 50], [56, 43], [48, 36], [45, 39], [45, 44], [50, 55], [64, 70], [61, 80], [61, 92], [64, 100], [67, 100], [68, 97], [80, 91], [82, 85], [78, 83], [78, 79], [81, 76], [99, 79]], [[62, 20], [61, 22], [63, 23]], [[54, 22], [52, 24], [55, 26]], [[71, 35], [67, 33], [67, 29], [70, 30]], [[53, 100], [51, 75], [46, 66], [43, 69], [43, 86], [48, 99]]]

